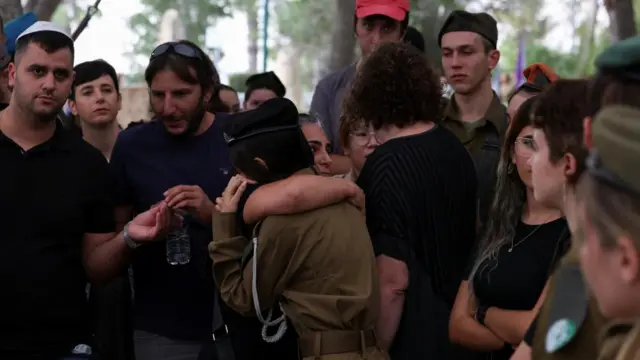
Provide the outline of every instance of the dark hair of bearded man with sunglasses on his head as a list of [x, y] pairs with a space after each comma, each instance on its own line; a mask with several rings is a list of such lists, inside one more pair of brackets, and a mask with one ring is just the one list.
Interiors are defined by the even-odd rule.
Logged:
[[[189, 84], [198, 84], [203, 91], [214, 89], [219, 83], [219, 75], [213, 61], [196, 44], [188, 40], [177, 41], [176, 44], [184, 44], [192, 47], [198, 53], [198, 58], [188, 58], [168, 51], [149, 61], [144, 72], [147, 85], [151, 86], [153, 78], [162, 70], [173, 71], [180, 80]], [[192, 72], [195, 71], [195, 76]]]

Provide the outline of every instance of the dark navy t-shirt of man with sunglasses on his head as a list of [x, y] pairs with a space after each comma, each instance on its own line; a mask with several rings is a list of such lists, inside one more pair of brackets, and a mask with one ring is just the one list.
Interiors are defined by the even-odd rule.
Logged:
[[[219, 124], [188, 141], [167, 133], [160, 121], [122, 131], [109, 164], [116, 182], [116, 205], [129, 205], [134, 213], [164, 199], [176, 185], [197, 185], [215, 200], [227, 186], [233, 168]], [[137, 330], [177, 340], [210, 338], [214, 286], [210, 224], [185, 217], [191, 246], [188, 264], [167, 263], [166, 242], [157, 241], [132, 257]]]

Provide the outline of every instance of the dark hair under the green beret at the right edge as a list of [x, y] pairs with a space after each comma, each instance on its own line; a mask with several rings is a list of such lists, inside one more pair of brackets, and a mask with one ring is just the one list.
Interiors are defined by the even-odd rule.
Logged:
[[640, 81], [609, 71], [597, 73], [589, 84], [588, 116], [610, 105], [640, 107]]

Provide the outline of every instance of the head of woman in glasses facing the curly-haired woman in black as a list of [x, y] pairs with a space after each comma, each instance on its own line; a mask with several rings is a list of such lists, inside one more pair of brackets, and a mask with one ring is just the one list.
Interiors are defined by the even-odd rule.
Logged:
[[350, 117], [340, 119], [340, 144], [344, 154], [351, 160], [351, 171], [338, 177], [355, 182], [367, 156], [378, 146], [373, 129], [364, 121]]

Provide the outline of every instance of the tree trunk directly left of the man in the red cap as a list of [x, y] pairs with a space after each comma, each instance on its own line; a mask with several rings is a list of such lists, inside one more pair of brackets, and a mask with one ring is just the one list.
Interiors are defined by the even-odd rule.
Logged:
[[325, 74], [351, 64], [356, 45], [356, 39], [353, 36], [355, 0], [336, 0], [335, 6], [336, 20], [333, 26], [331, 56]]

